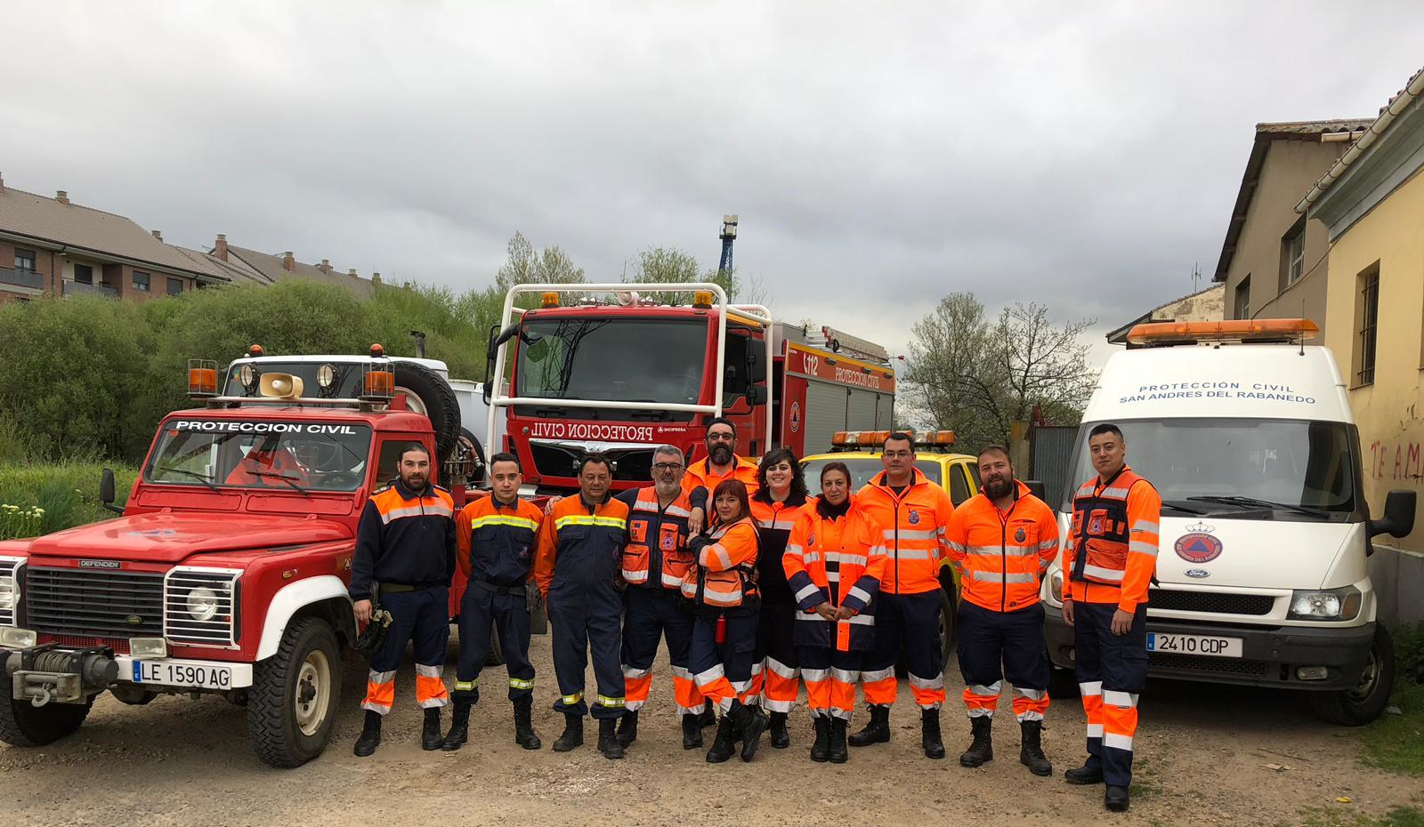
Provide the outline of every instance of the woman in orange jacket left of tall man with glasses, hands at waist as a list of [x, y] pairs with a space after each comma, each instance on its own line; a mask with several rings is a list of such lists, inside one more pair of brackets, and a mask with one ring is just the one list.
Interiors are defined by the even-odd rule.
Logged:
[[796, 605], [796, 655], [816, 743], [810, 760], [844, 763], [863, 653], [874, 646], [874, 596], [884, 576], [880, 530], [850, 494], [850, 470], [827, 463], [820, 497], [802, 508], [782, 557]]

